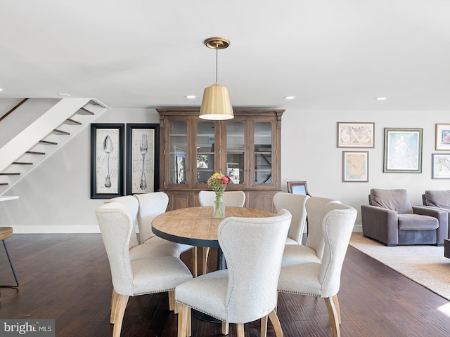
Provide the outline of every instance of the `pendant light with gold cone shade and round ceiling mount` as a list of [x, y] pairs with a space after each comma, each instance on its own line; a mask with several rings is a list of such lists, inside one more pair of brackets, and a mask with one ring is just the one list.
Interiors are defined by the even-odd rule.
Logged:
[[216, 50], [216, 83], [205, 88], [203, 92], [203, 101], [200, 107], [201, 119], [219, 121], [234, 118], [229, 90], [217, 83], [218, 50], [227, 48], [230, 44], [230, 40], [224, 37], [210, 37], [205, 40], [205, 45], [208, 48]]

